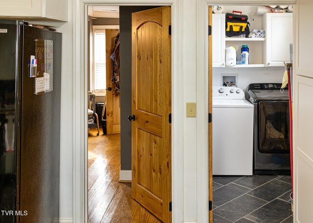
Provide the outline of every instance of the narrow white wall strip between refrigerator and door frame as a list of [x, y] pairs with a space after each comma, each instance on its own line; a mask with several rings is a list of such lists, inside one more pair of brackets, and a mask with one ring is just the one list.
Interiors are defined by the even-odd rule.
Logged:
[[73, 20], [72, 1], [68, 1], [68, 22], [60, 24], [62, 33], [61, 80], [61, 167], [60, 167], [60, 222], [73, 219]]

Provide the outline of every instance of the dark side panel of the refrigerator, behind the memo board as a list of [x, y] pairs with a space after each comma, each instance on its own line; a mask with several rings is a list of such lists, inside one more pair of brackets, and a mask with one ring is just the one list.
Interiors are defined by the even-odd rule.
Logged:
[[[61, 44], [57, 32], [24, 26], [22, 72], [20, 223], [59, 221]], [[35, 40], [53, 41], [53, 91], [34, 94], [28, 60]], [[45, 64], [38, 64], [45, 69]]]

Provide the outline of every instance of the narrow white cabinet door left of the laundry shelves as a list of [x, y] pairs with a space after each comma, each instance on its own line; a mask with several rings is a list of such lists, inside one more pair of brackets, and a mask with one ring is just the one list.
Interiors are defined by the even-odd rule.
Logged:
[[212, 15], [212, 66], [225, 66], [225, 14]]

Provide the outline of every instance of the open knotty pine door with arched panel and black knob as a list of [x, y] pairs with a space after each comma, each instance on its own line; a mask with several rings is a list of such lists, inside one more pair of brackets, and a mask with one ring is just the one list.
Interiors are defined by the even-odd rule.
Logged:
[[164, 223], [171, 202], [171, 8], [132, 17], [132, 196]]

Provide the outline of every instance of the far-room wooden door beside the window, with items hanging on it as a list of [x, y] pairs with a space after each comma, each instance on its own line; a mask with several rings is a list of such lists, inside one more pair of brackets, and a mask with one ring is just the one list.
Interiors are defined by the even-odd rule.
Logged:
[[114, 82], [112, 82], [112, 50], [114, 39], [118, 34], [118, 29], [106, 29], [106, 73], [107, 73], [107, 134], [121, 132], [121, 108], [120, 94], [113, 94]]

